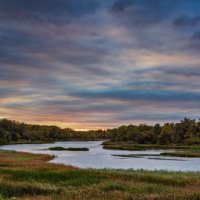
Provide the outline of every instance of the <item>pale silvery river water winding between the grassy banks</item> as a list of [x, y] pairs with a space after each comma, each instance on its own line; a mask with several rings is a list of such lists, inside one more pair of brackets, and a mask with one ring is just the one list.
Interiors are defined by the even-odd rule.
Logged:
[[[172, 158], [159, 156], [166, 150], [122, 151], [105, 150], [102, 141], [55, 142], [54, 144], [20, 144], [0, 146], [0, 149], [56, 156], [51, 163], [61, 163], [80, 168], [147, 169], [170, 171], [200, 171], [200, 158]], [[89, 151], [49, 151], [49, 147], [87, 147]], [[169, 150], [168, 150], [169, 151]], [[171, 150], [172, 151], [172, 150]], [[135, 157], [121, 155], [134, 154]], [[141, 156], [139, 156], [139, 154]], [[113, 156], [115, 155], [115, 156]], [[164, 159], [164, 160], [163, 160]]]

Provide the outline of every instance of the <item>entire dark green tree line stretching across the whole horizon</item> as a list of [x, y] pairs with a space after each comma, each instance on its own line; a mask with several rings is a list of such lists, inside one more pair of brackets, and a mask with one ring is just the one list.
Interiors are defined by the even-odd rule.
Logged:
[[184, 118], [164, 125], [140, 124], [108, 130], [75, 131], [57, 126], [30, 125], [0, 120], [0, 144], [12, 142], [50, 142], [58, 140], [132, 141], [136, 144], [200, 144], [200, 120]]

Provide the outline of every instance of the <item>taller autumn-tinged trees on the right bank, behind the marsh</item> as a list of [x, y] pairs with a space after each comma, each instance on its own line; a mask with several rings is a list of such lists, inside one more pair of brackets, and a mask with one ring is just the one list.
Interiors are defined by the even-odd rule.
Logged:
[[112, 141], [133, 141], [136, 144], [200, 144], [200, 120], [184, 118], [178, 123], [149, 126], [129, 125], [107, 130]]

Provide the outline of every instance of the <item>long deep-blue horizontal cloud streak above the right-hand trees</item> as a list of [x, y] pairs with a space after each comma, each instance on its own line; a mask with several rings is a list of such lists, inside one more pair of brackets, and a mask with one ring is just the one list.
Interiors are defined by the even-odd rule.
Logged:
[[133, 90], [133, 89], [105, 89], [81, 90], [70, 92], [72, 96], [93, 99], [118, 99], [118, 100], [146, 100], [148, 101], [199, 101], [198, 92], [180, 92], [173, 90]]

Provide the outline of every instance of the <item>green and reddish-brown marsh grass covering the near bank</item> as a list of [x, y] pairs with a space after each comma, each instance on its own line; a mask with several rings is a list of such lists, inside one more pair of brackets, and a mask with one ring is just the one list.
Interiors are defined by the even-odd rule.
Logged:
[[200, 173], [82, 170], [0, 151], [0, 199], [200, 199]]

